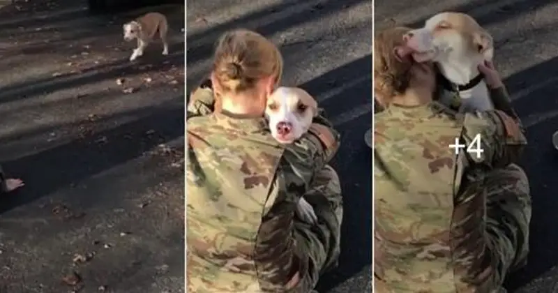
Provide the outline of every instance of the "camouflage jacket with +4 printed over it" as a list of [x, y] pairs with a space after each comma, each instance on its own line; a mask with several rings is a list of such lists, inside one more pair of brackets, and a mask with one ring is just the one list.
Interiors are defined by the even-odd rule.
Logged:
[[[527, 141], [517, 121], [437, 102], [392, 105], [375, 114], [374, 136], [375, 292], [495, 290], [485, 198], [471, 177], [518, 158]], [[456, 137], [465, 146], [480, 138], [483, 153], [456, 155]]]

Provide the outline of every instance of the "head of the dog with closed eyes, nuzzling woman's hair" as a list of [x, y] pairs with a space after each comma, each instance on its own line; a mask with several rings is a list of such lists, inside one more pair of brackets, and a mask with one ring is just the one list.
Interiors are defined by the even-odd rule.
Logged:
[[494, 45], [492, 36], [473, 17], [465, 13], [444, 12], [430, 17], [421, 29], [409, 31], [404, 36], [409, 47], [418, 53], [418, 62], [492, 61]]

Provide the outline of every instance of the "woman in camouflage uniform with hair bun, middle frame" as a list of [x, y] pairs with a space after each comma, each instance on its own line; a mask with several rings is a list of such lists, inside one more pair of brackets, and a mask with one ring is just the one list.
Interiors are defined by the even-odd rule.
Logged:
[[[326, 165], [339, 135], [320, 117], [287, 146], [271, 137], [266, 98], [280, 81], [277, 47], [253, 31], [218, 41], [211, 78], [190, 96], [186, 157], [189, 292], [308, 293], [335, 266], [340, 183]], [[304, 196], [317, 225], [294, 215]]]

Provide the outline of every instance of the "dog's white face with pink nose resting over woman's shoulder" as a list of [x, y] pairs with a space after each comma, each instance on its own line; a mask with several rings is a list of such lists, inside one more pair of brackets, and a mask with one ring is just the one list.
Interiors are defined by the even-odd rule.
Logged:
[[317, 102], [303, 89], [279, 87], [267, 99], [271, 135], [282, 144], [298, 140], [310, 129], [316, 115]]

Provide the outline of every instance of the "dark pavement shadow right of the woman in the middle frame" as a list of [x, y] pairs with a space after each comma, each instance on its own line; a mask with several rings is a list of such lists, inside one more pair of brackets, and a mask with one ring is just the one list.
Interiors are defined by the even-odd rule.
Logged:
[[[372, 121], [371, 67], [368, 55], [300, 85], [319, 100], [331, 121], [338, 121], [335, 128], [342, 135], [332, 162], [340, 176], [345, 209], [340, 262], [320, 278], [319, 292], [331, 290], [372, 264], [372, 156], [363, 141]], [[355, 106], [364, 111], [352, 114]]]

